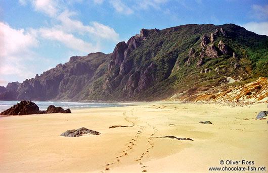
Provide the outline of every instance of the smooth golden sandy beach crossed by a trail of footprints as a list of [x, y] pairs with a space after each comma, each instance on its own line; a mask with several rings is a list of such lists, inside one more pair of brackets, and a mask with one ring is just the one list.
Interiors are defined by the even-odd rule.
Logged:
[[[154, 102], [3, 117], [0, 172], [216, 172], [209, 167], [268, 167], [267, 120], [255, 120], [262, 110], [267, 104]], [[115, 125], [131, 127], [109, 129]], [[81, 127], [101, 134], [60, 136]], [[193, 141], [156, 138], [163, 136]], [[227, 165], [226, 160], [240, 164]], [[254, 164], [242, 165], [242, 160]]]

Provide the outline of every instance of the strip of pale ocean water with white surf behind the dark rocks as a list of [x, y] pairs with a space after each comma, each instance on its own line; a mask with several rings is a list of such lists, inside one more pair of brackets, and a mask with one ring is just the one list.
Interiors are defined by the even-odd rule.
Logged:
[[[0, 112], [10, 108], [14, 104], [20, 101], [0, 101]], [[64, 109], [81, 109], [81, 108], [96, 108], [96, 107], [118, 107], [126, 106], [120, 103], [100, 103], [100, 102], [67, 102], [67, 101], [33, 101], [39, 110], [47, 110], [49, 105], [54, 105], [56, 107], [61, 106]]]

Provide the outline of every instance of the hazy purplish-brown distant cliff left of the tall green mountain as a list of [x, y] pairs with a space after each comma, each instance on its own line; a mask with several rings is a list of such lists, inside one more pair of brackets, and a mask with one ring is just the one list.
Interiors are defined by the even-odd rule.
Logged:
[[[111, 54], [101, 52], [72, 56], [64, 65], [25, 80], [17, 89], [18, 100], [72, 100], [84, 87], [103, 76]], [[88, 89], [88, 88], [86, 88]], [[76, 99], [78, 100], [78, 99]]]

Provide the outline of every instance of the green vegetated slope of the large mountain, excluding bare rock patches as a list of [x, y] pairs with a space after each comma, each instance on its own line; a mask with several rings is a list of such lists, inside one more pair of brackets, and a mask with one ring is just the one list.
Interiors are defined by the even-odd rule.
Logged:
[[[218, 59], [205, 57], [205, 64], [197, 67], [199, 53], [202, 50], [200, 38], [203, 34], [210, 36], [211, 32], [220, 27], [228, 31], [228, 35], [217, 37], [213, 43], [217, 46], [219, 40], [224, 41], [236, 52], [237, 59], [233, 59], [229, 55], [220, 55]], [[195, 49], [197, 57], [191, 61], [190, 65], [187, 65], [186, 61], [191, 47]], [[112, 95], [103, 95], [100, 90], [105, 78], [103, 76], [94, 82], [93, 91], [86, 99], [160, 100], [191, 87], [206, 89], [219, 85], [222, 76], [239, 77], [246, 81], [259, 76], [268, 77], [268, 66], [265, 64], [268, 62], [267, 49], [267, 36], [254, 34], [233, 24], [184, 25], [175, 27], [175, 29], [159, 30], [159, 32], [150, 30], [149, 36], [141, 46], [129, 55], [128, 58], [133, 60], [132, 71], [124, 76], [122, 81], [127, 81], [129, 76], [134, 73], [135, 68], [138, 67], [143, 71], [154, 63], [156, 68], [151, 73], [154, 74], [155, 80], [151, 87], [132, 98], [122, 97], [121, 92], [124, 85], [115, 88]], [[240, 67], [235, 69], [235, 63], [239, 63]], [[219, 69], [219, 74], [214, 71], [215, 68]], [[210, 69], [211, 72], [200, 74], [203, 69]]]

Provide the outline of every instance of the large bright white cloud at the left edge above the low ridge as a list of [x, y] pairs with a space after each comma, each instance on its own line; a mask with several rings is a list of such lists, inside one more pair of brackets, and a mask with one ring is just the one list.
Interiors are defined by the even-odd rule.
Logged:
[[38, 46], [34, 34], [24, 29], [13, 29], [8, 24], [0, 22], [0, 74], [17, 75], [23, 78], [33, 76], [32, 69], [24, 63], [32, 60], [32, 47]]

